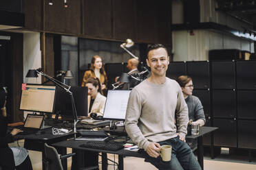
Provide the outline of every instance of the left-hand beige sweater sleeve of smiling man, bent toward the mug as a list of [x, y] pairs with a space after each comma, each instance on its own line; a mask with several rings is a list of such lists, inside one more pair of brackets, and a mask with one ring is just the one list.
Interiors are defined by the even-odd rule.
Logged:
[[140, 119], [142, 109], [142, 101], [136, 89], [131, 90], [129, 101], [127, 104], [127, 111], [125, 117], [125, 129], [131, 140], [138, 145], [138, 147], [147, 149], [149, 141], [142, 134], [138, 127], [138, 120]]

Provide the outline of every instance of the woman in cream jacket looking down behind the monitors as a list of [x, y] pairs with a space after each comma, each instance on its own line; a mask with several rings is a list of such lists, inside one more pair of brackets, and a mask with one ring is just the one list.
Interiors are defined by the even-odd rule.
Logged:
[[89, 102], [89, 114], [96, 113], [96, 116], [103, 116], [106, 97], [102, 95], [100, 81], [97, 77], [90, 77], [85, 86], [88, 88], [88, 95], [91, 97]]

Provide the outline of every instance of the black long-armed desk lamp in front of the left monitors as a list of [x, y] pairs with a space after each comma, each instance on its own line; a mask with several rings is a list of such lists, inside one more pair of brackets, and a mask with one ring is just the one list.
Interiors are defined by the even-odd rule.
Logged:
[[71, 98], [71, 102], [72, 102], [72, 111], [74, 114], [74, 138], [76, 138], [76, 123], [78, 123], [78, 118], [77, 118], [77, 112], [76, 112], [76, 105], [74, 103], [74, 96], [73, 96], [73, 93], [70, 91], [71, 86], [67, 86], [67, 84], [64, 84], [63, 82], [60, 82], [60, 81], [54, 79], [53, 77], [50, 77], [50, 75], [43, 73], [41, 68], [36, 69], [36, 70], [29, 70], [26, 77], [27, 76], [38, 77], [38, 74], [43, 75], [43, 77], [47, 78], [51, 82], [54, 82], [54, 84], [63, 88], [67, 93], [70, 94], [70, 98]]

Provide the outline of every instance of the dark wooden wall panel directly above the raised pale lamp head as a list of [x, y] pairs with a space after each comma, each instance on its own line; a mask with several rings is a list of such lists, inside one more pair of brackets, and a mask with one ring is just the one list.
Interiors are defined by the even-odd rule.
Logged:
[[136, 1], [113, 0], [114, 38], [136, 40]]

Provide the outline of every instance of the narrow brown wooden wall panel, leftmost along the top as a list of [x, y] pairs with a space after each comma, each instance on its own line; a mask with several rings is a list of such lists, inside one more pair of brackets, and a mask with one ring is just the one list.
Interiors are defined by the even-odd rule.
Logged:
[[42, 30], [42, 1], [24, 0], [25, 27], [29, 30]]

